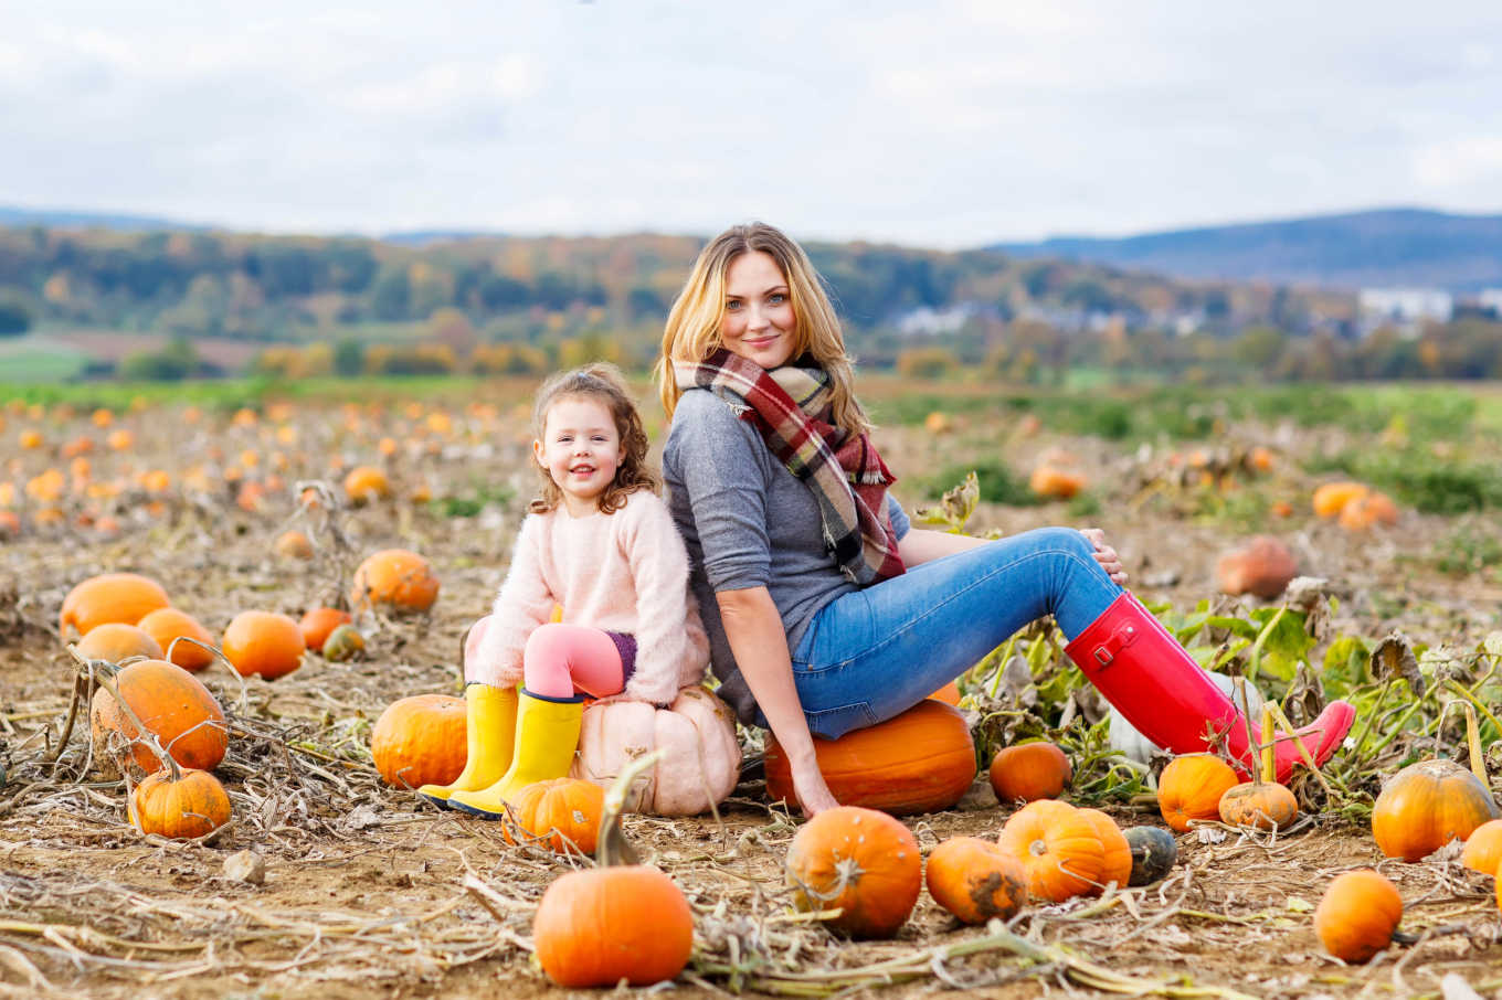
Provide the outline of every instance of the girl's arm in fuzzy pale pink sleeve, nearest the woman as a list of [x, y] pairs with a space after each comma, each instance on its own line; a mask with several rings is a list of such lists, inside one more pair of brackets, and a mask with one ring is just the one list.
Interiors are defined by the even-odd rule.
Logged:
[[632, 495], [616, 517], [629, 518], [622, 541], [637, 590], [637, 668], [623, 694], [668, 706], [688, 661], [697, 656], [700, 674], [707, 662], [688, 635], [688, 551], [673, 515], [653, 494]]

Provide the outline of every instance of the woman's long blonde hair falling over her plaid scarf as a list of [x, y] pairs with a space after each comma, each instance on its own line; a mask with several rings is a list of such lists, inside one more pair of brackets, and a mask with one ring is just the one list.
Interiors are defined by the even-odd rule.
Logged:
[[698, 252], [694, 270], [667, 315], [662, 356], [653, 369], [653, 378], [668, 419], [683, 395], [673, 375], [673, 363], [701, 362], [722, 345], [719, 324], [725, 317], [725, 275], [731, 261], [751, 252], [772, 257], [787, 281], [789, 300], [798, 320], [790, 359], [813, 354], [814, 362], [829, 372], [837, 426], [850, 434], [870, 431], [871, 422], [855, 398], [853, 359], [846, 353], [840, 320], [829, 305], [819, 272], [802, 246], [765, 222], [733, 225], [709, 240]]

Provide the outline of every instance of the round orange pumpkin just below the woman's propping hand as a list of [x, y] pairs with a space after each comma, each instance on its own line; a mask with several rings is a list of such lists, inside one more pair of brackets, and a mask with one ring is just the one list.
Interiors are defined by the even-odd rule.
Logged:
[[793, 905], [840, 910], [826, 925], [850, 937], [892, 937], [924, 884], [912, 832], [885, 812], [826, 809], [793, 836], [784, 863]]

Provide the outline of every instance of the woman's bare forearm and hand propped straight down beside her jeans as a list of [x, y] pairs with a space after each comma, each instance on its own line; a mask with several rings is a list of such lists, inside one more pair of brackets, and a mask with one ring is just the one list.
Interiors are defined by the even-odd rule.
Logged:
[[715, 599], [719, 602], [719, 620], [725, 626], [725, 640], [740, 667], [740, 676], [787, 754], [804, 815], [813, 817], [835, 808], [840, 803], [819, 770], [814, 737], [808, 733], [808, 719], [798, 701], [793, 662], [787, 655], [787, 632], [783, 629], [783, 616], [772, 604], [772, 595], [766, 587], [746, 587], [721, 590]]

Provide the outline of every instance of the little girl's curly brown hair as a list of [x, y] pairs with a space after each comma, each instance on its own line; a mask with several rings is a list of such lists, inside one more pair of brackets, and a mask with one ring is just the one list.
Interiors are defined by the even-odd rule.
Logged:
[[[610, 485], [599, 494], [601, 514], [614, 514], [626, 506], [626, 497], [638, 489], [658, 491], [661, 480], [647, 465], [647, 432], [641, 426], [641, 413], [637, 411], [637, 404], [631, 399], [626, 380], [619, 368], [610, 362], [595, 362], [550, 375], [538, 389], [536, 401], [532, 404], [532, 432], [539, 441], [547, 432], [548, 410], [559, 399], [599, 401], [610, 411], [610, 419], [616, 423], [616, 434], [620, 435], [620, 447], [625, 453]], [[547, 514], [563, 500], [563, 491], [535, 456], [533, 465], [542, 477], [542, 489], [527, 505], [527, 511]]]

